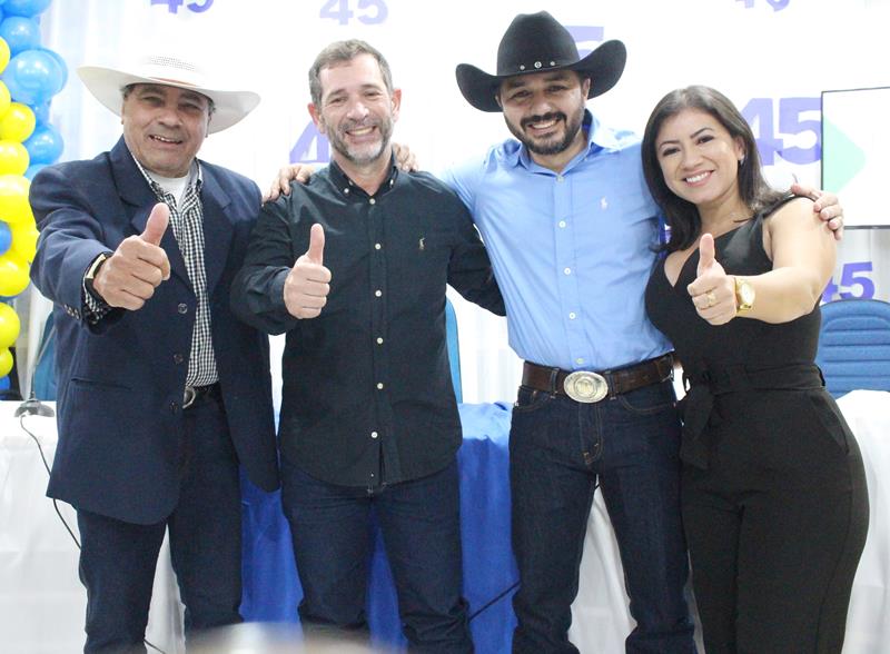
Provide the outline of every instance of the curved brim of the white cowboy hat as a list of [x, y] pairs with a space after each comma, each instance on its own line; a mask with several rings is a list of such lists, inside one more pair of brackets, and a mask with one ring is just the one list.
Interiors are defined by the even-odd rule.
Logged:
[[176, 80], [141, 77], [101, 66], [81, 66], [77, 69], [77, 73], [90, 93], [116, 116], [120, 116], [123, 106], [123, 89], [130, 85], [164, 85], [206, 96], [214, 102], [214, 113], [207, 130], [209, 133], [231, 127], [259, 105], [259, 96], [253, 91], [208, 89]]

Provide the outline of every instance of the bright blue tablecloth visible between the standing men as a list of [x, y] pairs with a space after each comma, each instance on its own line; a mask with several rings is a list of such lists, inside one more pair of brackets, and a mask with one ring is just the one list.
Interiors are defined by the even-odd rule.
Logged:
[[[517, 582], [510, 547], [507, 440], [510, 407], [461, 405], [464, 444], [458, 453], [464, 594], [479, 653], [510, 652]], [[290, 532], [278, 493], [244, 484], [244, 598], [247, 621], [296, 622], [303, 597]], [[368, 623], [377, 642], [404, 643], [389, 565], [377, 534], [368, 593]]]

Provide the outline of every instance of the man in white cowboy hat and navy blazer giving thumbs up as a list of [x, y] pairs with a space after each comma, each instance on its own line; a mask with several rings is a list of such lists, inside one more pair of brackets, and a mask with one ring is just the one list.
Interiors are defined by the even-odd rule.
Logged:
[[278, 486], [268, 340], [228, 301], [260, 195], [196, 158], [259, 97], [166, 56], [78, 72], [123, 136], [31, 186], [59, 338], [48, 495], [78, 512], [85, 651], [145, 651], [165, 532], [187, 632], [239, 622], [238, 464]]

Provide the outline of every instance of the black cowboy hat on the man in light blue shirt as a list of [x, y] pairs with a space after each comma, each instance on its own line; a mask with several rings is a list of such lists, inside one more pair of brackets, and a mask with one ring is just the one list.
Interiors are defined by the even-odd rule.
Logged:
[[520, 13], [510, 23], [497, 48], [497, 75], [488, 75], [469, 63], [461, 63], [455, 72], [467, 102], [482, 111], [501, 111], [495, 95], [508, 77], [574, 70], [591, 79], [587, 98], [593, 98], [615, 86], [626, 59], [624, 43], [615, 40], [605, 41], [581, 59], [568, 30], [546, 11], [538, 11]]

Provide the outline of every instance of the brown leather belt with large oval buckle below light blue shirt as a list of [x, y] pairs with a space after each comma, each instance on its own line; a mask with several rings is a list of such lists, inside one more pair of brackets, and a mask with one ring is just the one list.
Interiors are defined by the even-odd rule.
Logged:
[[570, 373], [525, 361], [522, 369], [522, 385], [535, 390], [567, 395], [575, 402], [592, 403], [671, 379], [673, 369], [674, 359], [671, 354], [601, 373], [589, 370]]

